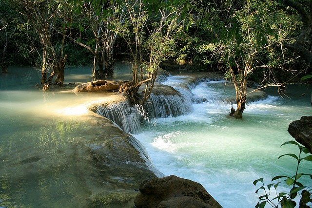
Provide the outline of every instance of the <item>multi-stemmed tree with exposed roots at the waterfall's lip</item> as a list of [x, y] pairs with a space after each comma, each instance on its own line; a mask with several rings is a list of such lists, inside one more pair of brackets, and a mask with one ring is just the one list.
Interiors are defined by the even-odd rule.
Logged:
[[[128, 95], [133, 104], [143, 106], [153, 90], [160, 62], [173, 53], [174, 34], [182, 22], [178, 21], [181, 10], [168, 3], [145, 4], [143, 0], [124, 0], [124, 3], [128, 8], [129, 20], [127, 24], [120, 25], [119, 32], [128, 43], [134, 65], [132, 81], [124, 83], [120, 92]], [[151, 18], [151, 14], [156, 18]], [[147, 22], [150, 24], [147, 25]], [[138, 90], [142, 84], [146, 85], [140, 100]]]

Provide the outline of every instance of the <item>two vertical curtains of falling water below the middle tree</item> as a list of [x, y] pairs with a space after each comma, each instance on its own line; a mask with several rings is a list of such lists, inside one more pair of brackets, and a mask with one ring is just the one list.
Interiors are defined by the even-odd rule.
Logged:
[[177, 91], [173, 95], [155, 95], [145, 103], [144, 108], [139, 105], [131, 106], [129, 101], [112, 104], [101, 104], [94, 112], [115, 122], [123, 131], [136, 133], [143, 120], [150, 118], [179, 116], [193, 110], [192, 97], [184, 96]]

